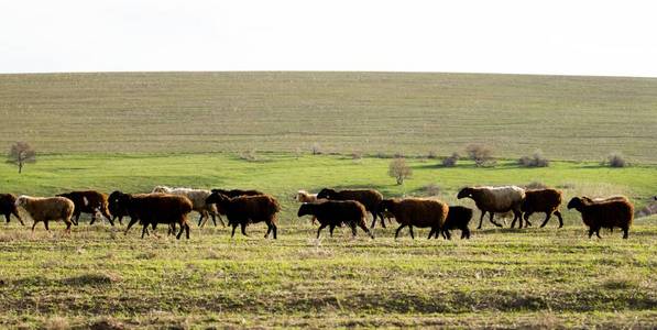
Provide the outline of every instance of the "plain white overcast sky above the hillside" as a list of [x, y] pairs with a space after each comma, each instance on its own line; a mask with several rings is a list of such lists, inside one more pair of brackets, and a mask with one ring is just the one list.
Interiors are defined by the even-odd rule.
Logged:
[[0, 73], [657, 77], [657, 1], [0, 0]]

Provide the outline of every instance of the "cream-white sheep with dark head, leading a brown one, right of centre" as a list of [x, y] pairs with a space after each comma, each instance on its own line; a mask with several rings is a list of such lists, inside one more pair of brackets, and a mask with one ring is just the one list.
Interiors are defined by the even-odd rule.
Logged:
[[[481, 229], [483, 217], [486, 212], [490, 213], [491, 223], [496, 227], [502, 224], [493, 221], [494, 213], [513, 211], [513, 221], [521, 220], [519, 227], [523, 228], [521, 205], [525, 198], [525, 189], [516, 186], [504, 187], [466, 187], [457, 195], [459, 199], [471, 198], [474, 200], [477, 208], [481, 210], [479, 218], [479, 227]], [[528, 226], [530, 223], [527, 223]]]

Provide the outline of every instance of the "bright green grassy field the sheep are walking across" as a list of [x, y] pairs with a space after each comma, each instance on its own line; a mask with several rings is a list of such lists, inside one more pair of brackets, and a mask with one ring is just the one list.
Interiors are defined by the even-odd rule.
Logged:
[[[457, 202], [469, 184], [540, 182], [567, 196], [625, 194], [645, 205], [657, 166], [610, 169], [556, 162], [549, 168], [494, 168], [464, 162], [408, 160], [414, 177], [387, 177], [390, 160], [339, 155], [296, 157], [230, 153], [45, 155], [22, 175], [0, 165], [3, 191], [52, 195], [68, 189], [147, 191], [154, 185], [256, 187], [283, 204], [280, 239], [230, 239], [228, 229], [193, 226], [191, 240], [139, 239], [122, 227], [63, 234], [61, 223], [34, 235], [12, 221], [0, 226], [2, 327], [464, 327], [654, 328], [657, 326], [657, 218], [637, 219], [629, 240], [603, 232], [589, 240], [574, 211], [563, 229], [474, 230], [470, 241], [427, 241], [427, 230], [394, 240], [394, 228], [348, 230], [315, 240], [316, 227], [296, 218], [299, 188], [375, 187], [387, 196], [423, 195], [434, 184]], [[459, 201], [472, 206], [470, 201]], [[196, 218], [196, 216], [194, 217]], [[539, 216], [534, 218], [538, 224]], [[471, 223], [473, 228], [475, 224]], [[458, 232], [456, 237], [458, 237]]]

